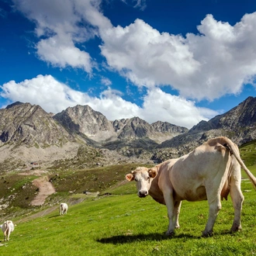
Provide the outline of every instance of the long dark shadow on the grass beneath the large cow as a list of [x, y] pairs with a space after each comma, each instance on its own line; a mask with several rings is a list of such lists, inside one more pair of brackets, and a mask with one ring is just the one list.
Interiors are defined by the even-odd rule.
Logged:
[[113, 237], [103, 237], [97, 242], [102, 244], [128, 244], [133, 243], [135, 241], [144, 241], [144, 240], [168, 240], [171, 238], [194, 238], [198, 239], [200, 237], [192, 236], [189, 234], [179, 234], [172, 237], [168, 237], [165, 234], [137, 234], [137, 235], [119, 235], [119, 236], [113, 236]]

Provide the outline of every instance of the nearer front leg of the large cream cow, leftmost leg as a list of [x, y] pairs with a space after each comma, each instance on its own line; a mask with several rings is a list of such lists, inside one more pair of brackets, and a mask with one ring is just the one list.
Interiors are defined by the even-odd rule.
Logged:
[[173, 199], [172, 192], [164, 192], [164, 201], [167, 207], [168, 211], [168, 219], [169, 219], [169, 226], [168, 230], [166, 232], [167, 236], [172, 236], [175, 234], [175, 223], [177, 223], [177, 215], [176, 215], [176, 221], [174, 222], [174, 216], [175, 216], [175, 202]]

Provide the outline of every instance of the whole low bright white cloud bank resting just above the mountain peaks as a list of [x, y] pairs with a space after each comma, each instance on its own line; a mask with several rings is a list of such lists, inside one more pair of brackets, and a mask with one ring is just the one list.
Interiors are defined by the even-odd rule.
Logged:
[[[216, 116], [210, 109], [196, 108], [194, 102], [171, 96], [160, 88], [149, 91], [144, 97], [142, 108], [122, 98], [122, 93], [110, 88], [103, 91], [99, 98], [90, 97], [69, 88], [51, 75], [38, 75], [33, 79], [16, 83], [9, 81], [0, 86], [3, 98], [12, 102], [30, 102], [41, 106], [47, 112], [61, 112], [69, 106], [89, 105], [95, 111], [102, 112], [109, 120], [140, 116], [148, 123], [158, 120], [179, 126], [192, 127], [208, 116]], [[152, 111], [154, 109], [154, 112]]]

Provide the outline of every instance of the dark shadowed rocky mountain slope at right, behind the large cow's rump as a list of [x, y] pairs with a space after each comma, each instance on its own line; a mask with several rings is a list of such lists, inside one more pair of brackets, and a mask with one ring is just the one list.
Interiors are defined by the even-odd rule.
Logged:
[[201, 121], [188, 133], [166, 140], [158, 147], [195, 147], [218, 136], [227, 136], [238, 145], [256, 140], [256, 98], [248, 97], [223, 115]]

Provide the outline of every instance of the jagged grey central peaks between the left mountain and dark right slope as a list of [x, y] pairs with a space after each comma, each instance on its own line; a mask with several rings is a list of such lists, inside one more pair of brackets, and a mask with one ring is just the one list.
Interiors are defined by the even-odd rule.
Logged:
[[83, 134], [91, 140], [105, 145], [106, 142], [109, 145], [113, 141], [123, 143], [144, 137], [161, 143], [188, 131], [185, 127], [161, 121], [150, 125], [139, 117], [109, 121], [106, 116], [93, 110], [90, 106], [69, 107], [61, 113], [57, 113], [53, 118], [68, 132]]

